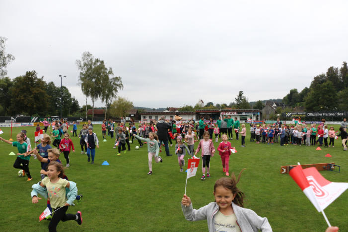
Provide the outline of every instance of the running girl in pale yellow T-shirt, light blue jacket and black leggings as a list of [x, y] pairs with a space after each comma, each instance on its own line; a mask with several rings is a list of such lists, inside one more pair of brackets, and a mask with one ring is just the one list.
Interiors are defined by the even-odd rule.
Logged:
[[32, 203], [38, 203], [38, 194], [49, 197], [54, 212], [48, 225], [50, 232], [57, 231], [59, 221], [75, 220], [79, 225], [82, 224], [82, 215], [78, 211], [76, 214], [66, 214], [68, 207], [73, 205], [77, 196], [78, 189], [76, 183], [63, 179], [64, 170], [62, 164], [51, 162], [47, 166], [47, 177], [32, 186]]

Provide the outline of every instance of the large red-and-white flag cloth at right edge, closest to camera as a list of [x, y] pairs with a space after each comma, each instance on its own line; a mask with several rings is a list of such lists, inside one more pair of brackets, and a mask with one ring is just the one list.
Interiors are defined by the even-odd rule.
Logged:
[[318, 212], [323, 211], [348, 188], [348, 183], [335, 183], [325, 179], [315, 167], [302, 169], [300, 165], [289, 172]]

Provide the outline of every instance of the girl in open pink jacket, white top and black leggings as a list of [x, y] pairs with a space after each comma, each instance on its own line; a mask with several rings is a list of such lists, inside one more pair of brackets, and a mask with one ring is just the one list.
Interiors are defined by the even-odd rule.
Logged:
[[215, 147], [213, 144], [213, 141], [209, 140], [210, 134], [208, 131], [204, 131], [203, 133], [203, 139], [199, 141], [198, 148], [196, 149], [196, 152], [194, 155], [197, 155], [197, 153], [202, 149], [202, 160], [203, 160], [203, 166], [202, 166], [202, 178], [201, 180], [205, 180], [205, 166], [207, 166], [207, 178], [210, 178], [210, 157], [214, 157], [215, 153]]

